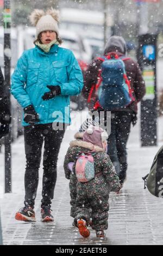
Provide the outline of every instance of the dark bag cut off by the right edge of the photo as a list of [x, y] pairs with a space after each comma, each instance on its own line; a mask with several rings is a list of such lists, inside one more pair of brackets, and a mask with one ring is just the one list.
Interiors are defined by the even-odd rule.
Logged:
[[153, 196], [163, 198], [163, 146], [155, 155], [149, 174], [142, 179]]

